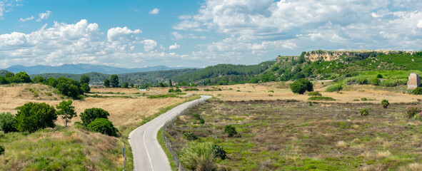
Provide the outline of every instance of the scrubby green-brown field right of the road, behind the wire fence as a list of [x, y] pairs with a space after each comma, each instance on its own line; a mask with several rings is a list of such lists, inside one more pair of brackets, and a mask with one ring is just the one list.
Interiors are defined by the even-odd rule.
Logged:
[[[180, 116], [167, 134], [176, 150], [189, 143], [188, 132], [221, 145], [228, 159], [217, 163], [228, 170], [422, 170], [422, 123], [403, 118], [407, 106], [213, 100]], [[238, 134], [228, 138], [225, 125]]]

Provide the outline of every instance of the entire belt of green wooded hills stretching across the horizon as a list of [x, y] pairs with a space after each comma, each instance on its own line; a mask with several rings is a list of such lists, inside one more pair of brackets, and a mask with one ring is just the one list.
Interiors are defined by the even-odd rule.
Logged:
[[[317, 53], [319, 51], [316, 51]], [[309, 53], [309, 52], [308, 52]], [[353, 56], [340, 56], [333, 61], [310, 61], [305, 58], [307, 52], [301, 56], [278, 56], [278, 62], [266, 61], [256, 65], [218, 64], [201, 69], [179, 69], [170, 71], [149, 71], [141, 73], [122, 73], [120, 83], [131, 83], [145, 88], [151, 86], [213, 86], [233, 85], [241, 83], [266, 83], [271, 81], [295, 81], [300, 78], [309, 80], [341, 79], [358, 76], [362, 71], [422, 71], [422, 52], [406, 53], [403, 51], [391, 54], [366, 51], [354, 53]], [[7, 71], [0, 71], [4, 76]], [[102, 85], [111, 75], [104, 73], [44, 73], [31, 75], [44, 78], [72, 78], [78, 80], [82, 75], [91, 78], [91, 84]], [[169, 83], [171, 82], [171, 83]]]

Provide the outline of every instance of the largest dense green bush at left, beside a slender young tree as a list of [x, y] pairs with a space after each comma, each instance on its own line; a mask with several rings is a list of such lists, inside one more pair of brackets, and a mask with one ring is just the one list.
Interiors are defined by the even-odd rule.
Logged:
[[54, 128], [57, 120], [56, 109], [47, 103], [26, 103], [19, 106], [14, 120], [14, 128], [20, 132], [34, 133], [42, 128]]

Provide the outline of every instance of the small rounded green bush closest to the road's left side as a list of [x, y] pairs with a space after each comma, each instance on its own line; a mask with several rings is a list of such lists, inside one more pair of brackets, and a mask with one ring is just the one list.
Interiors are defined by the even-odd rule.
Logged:
[[93, 132], [117, 137], [116, 128], [114, 128], [113, 123], [106, 118], [96, 118], [94, 121], [89, 123], [86, 128]]

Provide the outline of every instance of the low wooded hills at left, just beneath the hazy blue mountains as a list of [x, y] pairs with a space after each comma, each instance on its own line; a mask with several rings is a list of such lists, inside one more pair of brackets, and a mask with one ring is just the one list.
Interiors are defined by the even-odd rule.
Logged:
[[[199, 69], [179, 69], [179, 70], [169, 70], [169, 71], [149, 71], [149, 72], [140, 72], [140, 73], [121, 73], [117, 74], [119, 76], [119, 83], [123, 84], [126, 81], [128, 83], [133, 84], [157, 84], [161, 82], [169, 81], [169, 79], [175, 77], [184, 75], [186, 73], [192, 73], [194, 71], [198, 71]], [[34, 74], [31, 75], [31, 78], [34, 78], [36, 76], [42, 76], [44, 78], [59, 78], [59, 77], [65, 77], [65, 78], [72, 78], [76, 81], [79, 81], [79, 78], [81, 78], [82, 75], [89, 76], [91, 78], [91, 83], [98, 83], [102, 84], [101, 82], [104, 81], [106, 78], [110, 78], [110, 74], [104, 74], [104, 73], [84, 73], [84, 74], [71, 74], [71, 73], [42, 73], [42, 74]]]

